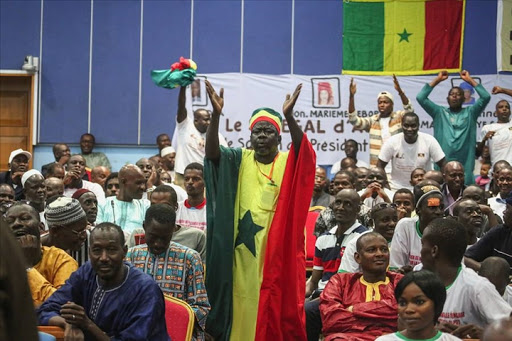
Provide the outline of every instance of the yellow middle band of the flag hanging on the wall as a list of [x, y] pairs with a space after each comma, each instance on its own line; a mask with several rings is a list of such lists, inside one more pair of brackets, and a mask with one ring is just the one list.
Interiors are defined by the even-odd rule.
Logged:
[[[423, 70], [425, 2], [386, 2], [384, 18], [384, 70]], [[409, 42], [397, 39], [404, 28]]]

